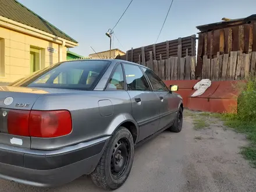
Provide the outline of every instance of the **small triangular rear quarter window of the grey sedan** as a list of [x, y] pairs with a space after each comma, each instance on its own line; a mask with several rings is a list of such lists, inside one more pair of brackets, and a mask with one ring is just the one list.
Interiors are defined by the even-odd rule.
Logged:
[[118, 64], [118, 66], [115, 68], [113, 76], [108, 83], [108, 86], [106, 87], [106, 90], [124, 90], [125, 83], [123, 79], [123, 69], [121, 64]]

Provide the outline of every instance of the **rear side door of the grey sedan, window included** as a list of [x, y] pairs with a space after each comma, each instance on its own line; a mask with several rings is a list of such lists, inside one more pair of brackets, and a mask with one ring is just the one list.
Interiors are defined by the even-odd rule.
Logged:
[[137, 65], [123, 63], [127, 93], [130, 95], [132, 115], [139, 126], [138, 141], [155, 133], [159, 125], [159, 99], [151, 90], [147, 78]]

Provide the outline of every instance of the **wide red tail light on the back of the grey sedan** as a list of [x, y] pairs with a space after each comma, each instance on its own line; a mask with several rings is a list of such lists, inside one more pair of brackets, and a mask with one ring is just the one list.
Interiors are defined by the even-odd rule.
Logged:
[[29, 137], [60, 137], [72, 131], [69, 111], [10, 110], [8, 133]]

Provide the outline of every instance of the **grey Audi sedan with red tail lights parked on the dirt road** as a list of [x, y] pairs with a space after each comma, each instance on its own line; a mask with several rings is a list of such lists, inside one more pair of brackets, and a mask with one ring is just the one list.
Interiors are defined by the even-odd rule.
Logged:
[[60, 62], [0, 87], [0, 178], [49, 187], [90, 174], [118, 189], [134, 146], [182, 130], [183, 99], [173, 91], [121, 60]]

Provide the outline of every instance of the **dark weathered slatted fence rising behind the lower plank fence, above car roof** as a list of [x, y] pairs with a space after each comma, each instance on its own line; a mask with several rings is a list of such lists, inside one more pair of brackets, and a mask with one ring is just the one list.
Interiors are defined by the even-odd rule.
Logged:
[[[146, 47], [131, 48], [126, 52], [126, 55], [120, 56], [120, 59], [135, 63], [142, 61], [145, 64], [145, 62], [150, 61], [150, 51], [152, 51], [154, 60], [160, 60], [160, 56], [162, 59], [168, 59], [170, 56], [185, 57], [186, 54], [195, 56], [195, 39], [195, 35], [191, 35]], [[179, 52], [178, 49], [180, 50]]]

